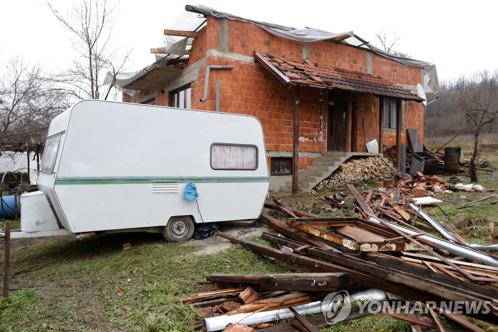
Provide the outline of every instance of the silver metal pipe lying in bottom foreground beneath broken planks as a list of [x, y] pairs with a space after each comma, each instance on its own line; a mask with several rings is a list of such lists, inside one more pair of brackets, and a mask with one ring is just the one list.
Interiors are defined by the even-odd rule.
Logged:
[[[377, 289], [369, 289], [364, 292], [351, 294], [348, 303], [355, 301], [384, 301], [387, 296], [384, 292]], [[308, 303], [302, 306], [293, 307], [299, 315], [318, 314], [323, 312], [323, 302], [317, 301]], [[342, 304], [336, 304], [342, 306]], [[335, 310], [335, 309], [334, 309]], [[260, 313], [245, 313], [232, 316], [223, 315], [204, 319], [207, 332], [225, 330], [227, 326], [235, 323], [243, 325], [259, 324], [278, 320], [286, 320], [294, 317], [294, 314], [289, 309], [278, 309]]]

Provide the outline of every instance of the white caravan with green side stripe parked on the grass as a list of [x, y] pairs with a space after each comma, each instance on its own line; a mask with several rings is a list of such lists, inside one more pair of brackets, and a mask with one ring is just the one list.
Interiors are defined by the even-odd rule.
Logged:
[[[184, 199], [192, 182], [199, 197]], [[50, 124], [40, 191], [21, 196], [11, 237], [162, 232], [258, 218], [269, 177], [263, 131], [246, 115], [99, 100]]]

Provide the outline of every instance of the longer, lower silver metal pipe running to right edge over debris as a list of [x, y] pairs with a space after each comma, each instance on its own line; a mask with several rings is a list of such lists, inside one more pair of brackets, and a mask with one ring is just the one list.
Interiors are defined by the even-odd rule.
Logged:
[[[376, 224], [380, 224], [379, 221], [370, 218], [370, 221]], [[396, 227], [399, 230], [402, 230], [403, 232], [410, 234], [410, 235], [415, 235], [418, 234], [418, 231], [414, 231], [410, 228], [403, 227], [397, 224], [394, 224], [390, 221], [383, 220], [392, 226]], [[432, 235], [421, 235], [418, 238], [430, 241], [434, 243], [435, 245], [439, 246], [440, 248], [448, 251], [450, 254], [455, 255], [455, 256], [464, 256], [466, 259], [468, 259], [470, 262], [473, 262], [477, 259], [481, 261], [482, 264], [488, 265], [488, 266], [495, 266], [498, 267], [498, 259], [494, 258], [493, 256], [487, 255], [485, 253], [482, 253], [478, 250], [474, 250], [470, 247], [465, 247], [461, 244], [453, 243], [447, 240], [440, 239], [438, 237], [432, 236]]]

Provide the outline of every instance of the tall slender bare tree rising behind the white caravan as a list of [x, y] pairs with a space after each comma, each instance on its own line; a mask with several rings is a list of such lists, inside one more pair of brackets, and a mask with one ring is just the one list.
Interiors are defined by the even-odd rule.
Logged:
[[[123, 70], [129, 56], [129, 51], [120, 52], [110, 46], [114, 13], [119, 2], [80, 0], [72, 5], [67, 15], [47, 4], [74, 37], [73, 49], [78, 54], [71, 68], [65, 69], [57, 82], [78, 99], [107, 99], [116, 75]], [[113, 74], [114, 81], [104, 86], [107, 72]]]

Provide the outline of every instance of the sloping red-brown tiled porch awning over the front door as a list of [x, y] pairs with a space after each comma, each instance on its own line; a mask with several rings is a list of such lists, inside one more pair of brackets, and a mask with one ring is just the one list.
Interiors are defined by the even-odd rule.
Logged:
[[365, 93], [377, 97], [423, 101], [422, 98], [401, 85], [365, 72], [315, 64], [308, 59], [299, 61], [268, 53], [254, 52], [254, 58], [284, 84], [293, 83]]

